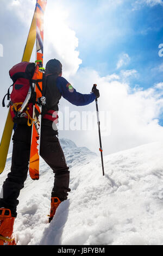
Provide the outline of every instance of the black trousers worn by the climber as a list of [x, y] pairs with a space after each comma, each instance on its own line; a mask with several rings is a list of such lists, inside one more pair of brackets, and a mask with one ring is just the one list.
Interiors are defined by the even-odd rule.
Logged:
[[[3, 184], [0, 208], [5, 207], [11, 210], [12, 216], [17, 215], [16, 206], [20, 190], [24, 187], [27, 179], [28, 164], [30, 156], [31, 127], [18, 125], [13, 140], [11, 172]], [[70, 192], [70, 172], [65, 161], [56, 132], [49, 126], [41, 127], [40, 155], [43, 160], [53, 169], [54, 187], [52, 197], [58, 197], [61, 201], [67, 199]]]

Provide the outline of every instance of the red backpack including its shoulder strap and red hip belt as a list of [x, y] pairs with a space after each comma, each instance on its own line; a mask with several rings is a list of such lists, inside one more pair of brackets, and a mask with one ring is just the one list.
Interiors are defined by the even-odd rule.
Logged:
[[[8, 107], [10, 107], [10, 113], [12, 120], [14, 123], [28, 124], [28, 126], [33, 123], [33, 106], [36, 102], [36, 93], [34, 92], [33, 84], [39, 88], [39, 80], [34, 80], [34, 71], [35, 71], [35, 63], [31, 62], [21, 62], [13, 66], [9, 75], [13, 81], [13, 84], [10, 87], [12, 88], [12, 92], [10, 94], [10, 87], [8, 89], [8, 93], [4, 96], [2, 105], [5, 107], [5, 97], [8, 96], [8, 100], [10, 100]], [[43, 73], [42, 73], [43, 74]], [[46, 94], [47, 87], [47, 77], [42, 75], [43, 87], [45, 88], [42, 93]], [[31, 93], [29, 94], [29, 88], [31, 88]], [[41, 89], [40, 89], [41, 90]], [[30, 99], [27, 99], [27, 97]], [[44, 97], [45, 98], [45, 97]], [[47, 99], [49, 97], [47, 96]], [[27, 103], [28, 102], [28, 103]], [[27, 103], [27, 104], [26, 104]], [[44, 105], [45, 103], [38, 102], [40, 105]], [[23, 106], [26, 106], [23, 108]], [[58, 120], [58, 115], [53, 117], [54, 110], [49, 109], [47, 107], [42, 111], [43, 119], [48, 119], [51, 121]]]

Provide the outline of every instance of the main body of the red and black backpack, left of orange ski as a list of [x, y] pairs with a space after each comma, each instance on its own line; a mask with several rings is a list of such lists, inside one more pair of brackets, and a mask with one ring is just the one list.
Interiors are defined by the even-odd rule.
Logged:
[[[14, 123], [28, 123], [29, 126], [32, 125], [34, 103], [34, 89], [32, 85], [32, 77], [34, 75], [34, 71], [35, 63], [30, 62], [18, 63], [13, 66], [9, 71], [10, 78], [13, 81], [13, 84], [11, 85], [13, 88], [10, 94], [10, 86], [8, 89], [8, 93], [5, 96], [8, 96], [8, 100], [10, 100], [8, 107], [10, 107], [11, 117]], [[29, 88], [31, 88], [32, 92], [30, 100], [24, 110], [22, 112], [19, 112], [23, 102], [26, 100]], [[5, 106], [5, 96], [2, 102], [3, 107]], [[18, 115], [18, 113], [20, 114]]]

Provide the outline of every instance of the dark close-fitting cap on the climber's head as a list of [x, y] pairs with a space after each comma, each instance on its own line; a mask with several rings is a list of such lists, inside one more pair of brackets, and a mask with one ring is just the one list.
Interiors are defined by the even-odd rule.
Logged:
[[46, 64], [47, 74], [59, 75], [62, 72], [62, 64], [58, 59], [50, 59]]

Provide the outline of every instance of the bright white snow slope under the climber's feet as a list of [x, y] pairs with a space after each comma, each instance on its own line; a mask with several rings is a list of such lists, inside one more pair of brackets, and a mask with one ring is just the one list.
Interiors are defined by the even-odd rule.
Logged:
[[[163, 245], [163, 142], [101, 158], [60, 139], [71, 180], [68, 200], [49, 224], [54, 174], [41, 159], [40, 180], [29, 175], [15, 221], [17, 245]], [[11, 155], [1, 174], [9, 172]]]

